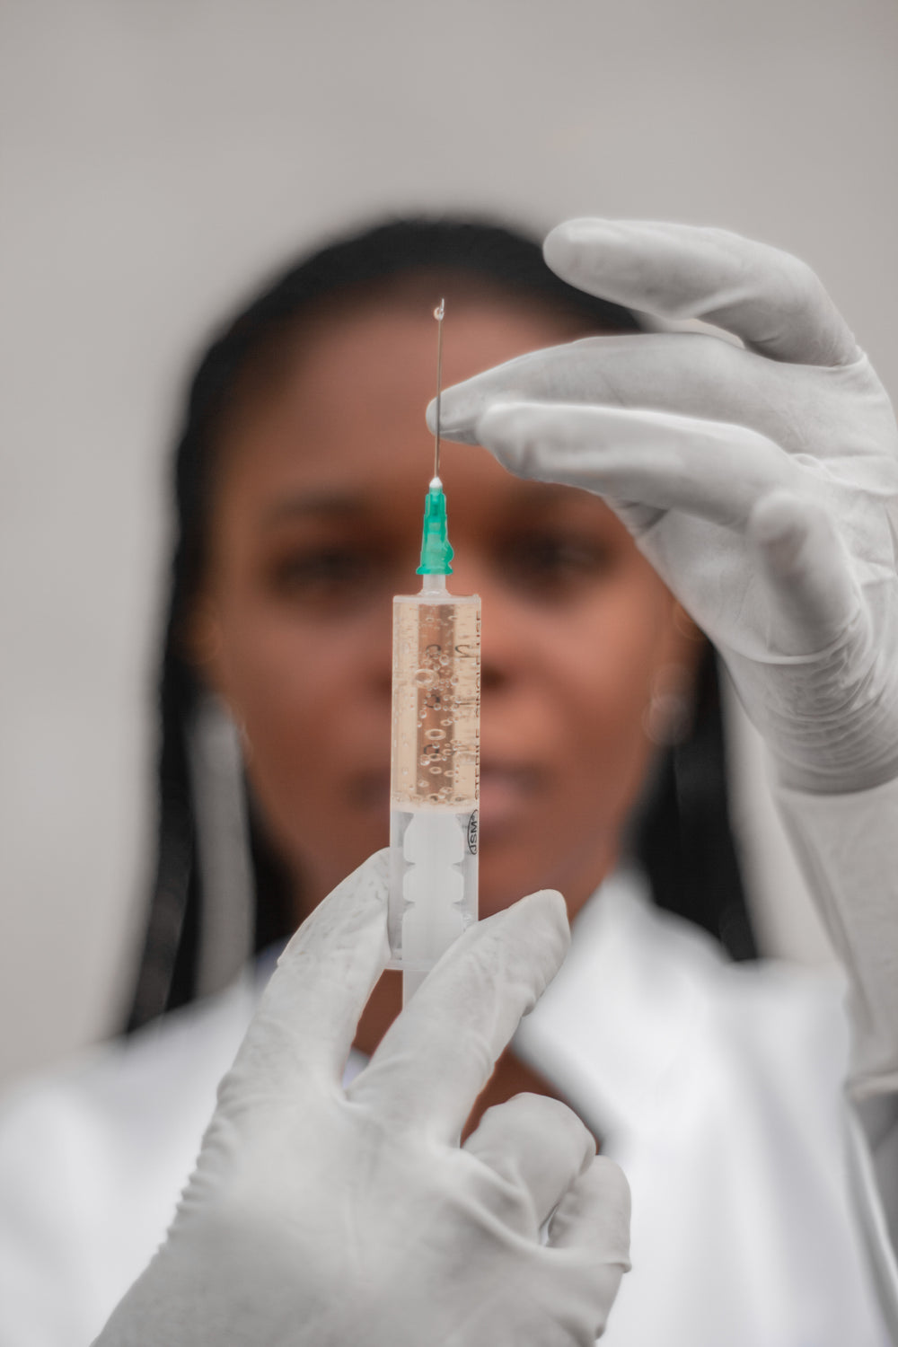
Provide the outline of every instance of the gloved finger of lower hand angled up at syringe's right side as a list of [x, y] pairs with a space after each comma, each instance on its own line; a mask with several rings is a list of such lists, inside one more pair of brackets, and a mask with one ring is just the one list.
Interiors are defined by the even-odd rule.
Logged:
[[347, 1095], [397, 1130], [458, 1141], [495, 1059], [552, 981], [571, 935], [564, 898], [532, 893], [471, 927], [393, 1021]]

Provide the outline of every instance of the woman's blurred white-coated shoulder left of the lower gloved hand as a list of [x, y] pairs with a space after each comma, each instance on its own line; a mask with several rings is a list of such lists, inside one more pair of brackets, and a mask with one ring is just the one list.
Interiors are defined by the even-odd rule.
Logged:
[[26, 1080], [0, 1103], [9, 1340], [90, 1342], [147, 1263], [256, 1001], [242, 981]]

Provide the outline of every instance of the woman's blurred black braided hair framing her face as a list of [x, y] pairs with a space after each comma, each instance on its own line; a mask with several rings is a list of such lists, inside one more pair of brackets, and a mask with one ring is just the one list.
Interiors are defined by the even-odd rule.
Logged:
[[[583, 333], [638, 331], [634, 315], [560, 280], [532, 238], [475, 220], [388, 220], [302, 259], [264, 287], [199, 361], [174, 458], [176, 536], [159, 684], [158, 849], [143, 955], [128, 1029], [195, 995], [202, 940], [186, 727], [201, 683], [184, 648], [184, 622], [206, 558], [210, 474], [217, 435], [241, 377], [289, 342], [322, 303], [415, 272], [499, 290], [582, 325]], [[723, 939], [735, 956], [754, 952], [726, 808], [723, 741], [714, 657], [703, 665], [693, 733], [654, 777], [637, 830], [637, 854], [657, 900]], [[287, 870], [250, 803], [256, 948], [292, 929]], [[727, 913], [730, 913], [727, 916]], [[732, 916], [735, 913], [735, 916]], [[738, 939], [728, 932], [738, 928]]]

